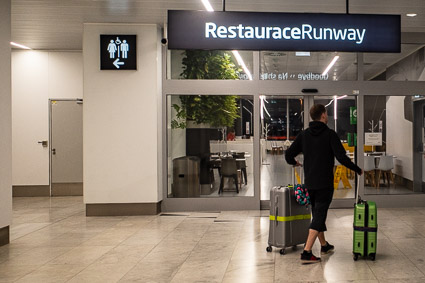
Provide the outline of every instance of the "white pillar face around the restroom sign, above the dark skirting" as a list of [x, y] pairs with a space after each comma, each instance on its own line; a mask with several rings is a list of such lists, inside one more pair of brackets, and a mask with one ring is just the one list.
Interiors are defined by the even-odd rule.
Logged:
[[[100, 70], [99, 35], [136, 34], [137, 70]], [[156, 25], [85, 24], [85, 203], [161, 200], [161, 45]]]

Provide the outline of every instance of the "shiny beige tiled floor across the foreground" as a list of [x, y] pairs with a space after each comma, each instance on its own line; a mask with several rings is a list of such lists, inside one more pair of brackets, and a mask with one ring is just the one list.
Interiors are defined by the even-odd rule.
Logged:
[[301, 247], [266, 252], [268, 211], [85, 217], [80, 197], [13, 204], [0, 282], [425, 282], [425, 208], [379, 209], [375, 262], [352, 260], [352, 209], [331, 210], [335, 252], [301, 265]]

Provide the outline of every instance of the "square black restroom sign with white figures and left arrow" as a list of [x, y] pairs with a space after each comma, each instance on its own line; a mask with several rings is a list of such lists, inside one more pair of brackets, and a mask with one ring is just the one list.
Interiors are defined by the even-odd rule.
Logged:
[[101, 70], [137, 70], [137, 36], [100, 35]]

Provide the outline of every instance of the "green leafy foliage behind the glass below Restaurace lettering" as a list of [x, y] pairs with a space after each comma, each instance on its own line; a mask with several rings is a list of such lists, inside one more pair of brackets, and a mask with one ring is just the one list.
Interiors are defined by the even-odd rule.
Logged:
[[[240, 69], [224, 51], [186, 50], [184, 55], [181, 73], [184, 79], [236, 80], [239, 77]], [[173, 105], [177, 115], [171, 127], [184, 129], [187, 120], [213, 127], [231, 127], [239, 117], [237, 98], [235, 95], [182, 95], [181, 106]]]

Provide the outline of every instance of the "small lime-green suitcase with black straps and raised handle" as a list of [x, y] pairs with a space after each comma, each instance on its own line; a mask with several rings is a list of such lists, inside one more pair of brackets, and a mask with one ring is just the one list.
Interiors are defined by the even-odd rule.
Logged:
[[[360, 184], [360, 177], [358, 179]], [[357, 198], [354, 204], [354, 223], [353, 223], [353, 259], [357, 260], [359, 256], [369, 257], [375, 260], [378, 215], [376, 203], [365, 201], [359, 197], [357, 188]]]

